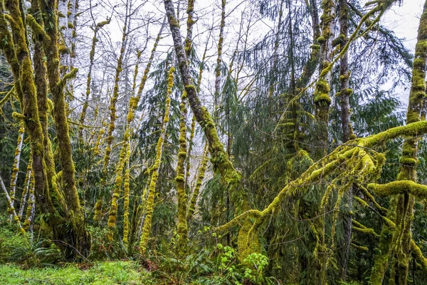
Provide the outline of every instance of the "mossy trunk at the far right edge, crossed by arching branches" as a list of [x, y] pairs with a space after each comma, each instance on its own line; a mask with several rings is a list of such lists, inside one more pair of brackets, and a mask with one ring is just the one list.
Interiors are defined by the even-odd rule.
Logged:
[[[409, 94], [408, 111], [406, 113], [406, 124], [416, 123], [421, 120], [421, 112], [426, 97], [426, 60], [427, 60], [427, 1], [423, 6], [418, 27], [418, 37], [413, 59], [411, 91]], [[405, 140], [402, 147], [400, 159], [400, 172], [397, 180], [405, 182], [416, 182], [416, 152], [418, 149], [418, 137]], [[376, 187], [378, 189], [378, 186]], [[393, 195], [389, 192], [388, 195]], [[397, 193], [396, 193], [397, 194]], [[395, 216], [396, 229], [392, 231], [389, 225], [384, 224], [381, 230], [379, 249], [376, 254], [374, 266], [371, 269], [371, 284], [381, 284], [386, 273], [391, 251], [392, 263], [390, 284], [406, 284], [408, 276], [409, 256], [411, 250], [411, 223], [413, 219], [413, 193], [403, 191], [392, 198], [390, 215]], [[389, 216], [389, 215], [388, 215]], [[392, 238], [391, 238], [392, 237]]]

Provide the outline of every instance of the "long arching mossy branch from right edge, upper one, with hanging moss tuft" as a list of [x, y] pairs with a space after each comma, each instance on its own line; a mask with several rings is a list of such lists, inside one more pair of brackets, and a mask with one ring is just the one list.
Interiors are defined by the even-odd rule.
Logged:
[[[363, 177], [364, 182], [369, 180], [376, 180], [381, 172], [381, 168], [385, 162], [385, 156], [379, 152], [374, 152], [370, 155], [368, 152], [360, 152], [360, 150], [369, 150], [369, 148], [379, 145], [381, 142], [398, 138], [402, 135], [421, 135], [427, 133], [427, 122], [420, 121], [411, 123], [396, 128], [391, 128], [382, 133], [371, 135], [367, 138], [355, 139], [349, 142], [348, 145], [341, 145], [337, 147], [330, 155], [315, 162], [308, 170], [306, 170], [300, 177], [293, 180], [281, 190], [278, 195], [273, 199], [268, 207], [259, 210], [251, 210], [238, 215], [231, 222], [218, 227], [219, 231], [229, 229], [240, 222], [254, 218], [255, 222], [246, 239], [250, 239], [255, 234], [255, 231], [260, 227], [268, 214], [273, 214], [287, 197], [295, 195], [296, 192], [301, 190], [305, 185], [311, 185], [320, 180], [330, 177], [334, 173], [354, 172], [358, 173], [359, 177]], [[354, 145], [354, 147], [353, 147]], [[360, 153], [359, 153], [360, 152]], [[360, 154], [360, 155], [359, 155]], [[362, 183], [362, 181], [359, 181]]]

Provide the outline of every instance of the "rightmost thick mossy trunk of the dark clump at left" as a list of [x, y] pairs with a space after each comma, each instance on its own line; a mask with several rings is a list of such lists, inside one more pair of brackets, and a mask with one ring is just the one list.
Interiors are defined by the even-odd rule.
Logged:
[[[47, 58], [47, 78], [49, 83], [49, 90], [51, 90], [53, 97], [53, 118], [56, 125], [56, 134], [58, 139], [60, 167], [62, 170], [62, 189], [66, 201], [66, 208], [61, 209], [65, 211], [65, 219], [70, 223], [71, 229], [63, 232], [58, 232], [64, 242], [72, 245], [80, 254], [88, 254], [90, 248], [90, 240], [88, 233], [85, 230], [85, 218], [83, 209], [80, 207], [80, 199], [78, 197], [77, 188], [75, 186], [74, 178], [74, 162], [72, 147], [70, 142], [70, 135], [68, 133], [68, 118], [67, 106], [65, 104], [64, 87], [68, 79], [75, 76], [77, 69], [60, 78], [60, 58], [58, 52], [58, 17], [57, 17], [57, 2], [55, 0], [39, 1], [38, 8], [43, 17], [43, 28], [32, 23], [33, 31], [38, 33], [38, 36], [43, 37], [43, 50]], [[53, 177], [52, 182], [56, 180]], [[75, 249], [69, 249], [70, 253], [75, 253]]]

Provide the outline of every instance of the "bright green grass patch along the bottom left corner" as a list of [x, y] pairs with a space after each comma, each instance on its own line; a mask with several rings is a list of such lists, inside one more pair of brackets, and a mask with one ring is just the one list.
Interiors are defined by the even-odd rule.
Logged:
[[82, 270], [75, 265], [44, 269], [20, 269], [0, 265], [0, 284], [152, 284], [149, 273], [134, 261], [100, 262]]

